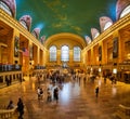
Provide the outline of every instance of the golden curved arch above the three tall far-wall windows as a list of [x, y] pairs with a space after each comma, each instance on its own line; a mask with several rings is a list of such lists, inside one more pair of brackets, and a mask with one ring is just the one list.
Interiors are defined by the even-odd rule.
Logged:
[[81, 49], [86, 48], [87, 45], [84, 39], [82, 39], [81, 37], [77, 35], [69, 34], [69, 32], [56, 34], [56, 35], [49, 37], [44, 42], [44, 47], [49, 49], [52, 44], [55, 44], [58, 50], [64, 44], [68, 45], [69, 49], [73, 49], [73, 47], [77, 44]]

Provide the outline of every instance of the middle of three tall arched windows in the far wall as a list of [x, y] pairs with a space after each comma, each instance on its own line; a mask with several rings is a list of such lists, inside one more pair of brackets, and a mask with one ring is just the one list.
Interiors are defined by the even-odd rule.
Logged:
[[61, 60], [63, 62], [69, 61], [69, 48], [67, 45], [63, 45], [61, 50]]

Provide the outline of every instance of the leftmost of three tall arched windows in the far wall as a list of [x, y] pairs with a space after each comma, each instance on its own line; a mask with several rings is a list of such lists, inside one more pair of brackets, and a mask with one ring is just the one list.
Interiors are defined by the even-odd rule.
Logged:
[[56, 47], [52, 45], [49, 51], [50, 51], [50, 62], [55, 62], [56, 61]]

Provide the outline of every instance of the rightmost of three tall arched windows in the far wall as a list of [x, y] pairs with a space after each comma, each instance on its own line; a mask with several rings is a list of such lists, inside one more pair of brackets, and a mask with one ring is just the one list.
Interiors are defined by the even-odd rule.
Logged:
[[74, 47], [74, 61], [80, 62], [81, 49], [79, 47]]

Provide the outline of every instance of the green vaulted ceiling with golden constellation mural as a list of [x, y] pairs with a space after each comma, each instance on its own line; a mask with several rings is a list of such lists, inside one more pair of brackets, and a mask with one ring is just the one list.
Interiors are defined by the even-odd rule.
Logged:
[[91, 38], [91, 28], [101, 32], [100, 17], [116, 21], [117, 0], [15, 0], [16, 19], [31, 16], [30, 32], [40, 28], [39, 39], [69, 32]]

